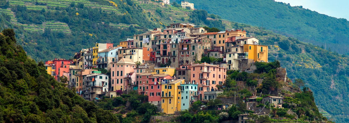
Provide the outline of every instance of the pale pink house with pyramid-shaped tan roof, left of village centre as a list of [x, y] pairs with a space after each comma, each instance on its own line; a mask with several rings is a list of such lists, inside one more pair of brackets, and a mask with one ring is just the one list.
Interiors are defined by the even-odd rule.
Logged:
[[122, 58], [117, 63], [111, 63], [111, 94], [117, 90], [128, 89], [128, 83], [135, 80], [136, 76], [133, 68], [136, 68], [136, 63], [127, 58]]

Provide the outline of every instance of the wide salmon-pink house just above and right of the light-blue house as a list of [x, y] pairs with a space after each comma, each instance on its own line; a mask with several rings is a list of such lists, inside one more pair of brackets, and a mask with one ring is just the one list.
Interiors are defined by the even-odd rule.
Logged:
[[216, 85], [223, 85], [227, 69], [222, 65], [208, 63], [194, 64], [191, 66], [191, 81], [198, 84], [199, 99], [204, 97], [203, 92], [217, 90]]

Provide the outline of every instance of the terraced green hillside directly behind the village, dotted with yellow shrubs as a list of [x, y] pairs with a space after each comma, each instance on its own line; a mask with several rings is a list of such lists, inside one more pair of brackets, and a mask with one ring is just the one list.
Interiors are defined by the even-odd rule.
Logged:
[[220, 30], [243, 29], [247, 36], [257, 37], [262, 45], [269, 46], [269, 61], [279, 60], [282, 67], [287, 68], [289, 78], [305, 80], [305, 86], [313, 91], [320, 112], [330, 120], [349, 122], [346, 110], [349, 108], [347, 56], [304, 43], [307, 40], [237, 23], [241, 22], [239, 20], [223, 20], [205, 10], [162, 6], [151, 1], [9, 0], [1, 7], [1, 29], [15, 28], [17, 44], [22, 45], [36, 61], [54, 57], [69, 59], [74, 52], [92, 47], [96, 42], [118, 43], [133, 34], [173, 22], [190, 22]]

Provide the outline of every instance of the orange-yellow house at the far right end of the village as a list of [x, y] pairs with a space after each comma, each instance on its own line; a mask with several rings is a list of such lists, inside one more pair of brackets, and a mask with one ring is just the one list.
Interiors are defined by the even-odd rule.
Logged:
[[268, 46], [245, 44], [244, 52], [248, 52], [248, 59], [268, 62]]

